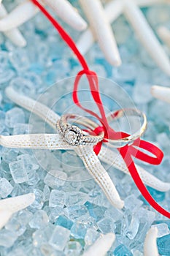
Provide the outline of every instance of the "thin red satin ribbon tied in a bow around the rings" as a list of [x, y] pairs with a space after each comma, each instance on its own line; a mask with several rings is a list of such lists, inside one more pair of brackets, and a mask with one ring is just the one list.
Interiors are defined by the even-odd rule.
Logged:
[[[88, 64], [85, 61], [84, 57], [80, 53], [80, 51], [77, 49], [77, 46], [75, 45], [74, 41], [71, 37], [69, 37], [69, 34], [64, 31], [64, 29], [61, 27], [61, 25], [50, 15], [47, 10], [45, 10], [44, 7], [42, 7], [41, 4], [39, 4], [36, 0], [31, 0], [34, 4], [36, 4], [37, 7], [44, 13], [44, 15], [47, 17], [48, 20], [55, 26], [55, 29], [58, 30], [58, 33], [61, 35], [63, 40], [66, 42], [67, 45], [69, 45], [69, 48], [72, 49], [74, 54], [77, 56], [77, 59], [80, 61], [80, 64], [82, 65], [82, 71], [80, 71], [77, 74], [77, 77], [74, 81], [74, 90], [73, 90], [73, 100], [74, 103], [82, 108], [82, 110], [85, 110], [86, 112], [90, 113], [90, 115], [95, 116], [98, 118], [98, 120], [101, 122], [102, 127], [98, 127], [95, 132], [98, 134], [98, 132], [101, 132], [101, 130], [104, 130], [104, 142], [107, 141], [107, 138], [110, 139], [118, 139], [125, 137], [125, 133], [121, 132], [115, 132], [111, 127], [109, 127], [109, 124], [107, 122], [107, 117], [104, 112], [104, 106], [101, 101], [101, 96], [99, 94], [99, 86], [98, 86], [98, 77], [95, 72], [91, 71], [88, 68]], [[78, 98], [78, 87], [79, 82], [82, 77], [82, 75], [86, 75], [88, 78], [89, 86], [90, 86], [90, 93], [96, 102], [96, 105], [98, 106], [98, 110], [100, 111], [101, 116], [98, 116], [96, 113], [94, 113], [92, 110], [89, 110], [87, 108], [83, 108], [80, 104], [79, 98]], [[144, 151], [148, 151], [153, 155], [150, 156], [150, 154], [144, 153], [143, 151], [140, 151], [139, 148], [144, 149]], [[96, 154], [99, 153], [101, 149], [101, 143], [98, 143], [98, 145], [94, 148], [94, 151]], [[158, 147], [154, 146], [152, 143], [148, 143], [147, 141], [137, 139], [134, 141], [134, 143], [131, 146], [123, 146], [123, 148], [117, 148], [117, 150], [120, 152], [120, 155], [123, 157], [125, 164], [128, 167], [129, 173], [131, 173], [132, 178], [134, 179], [134, 182], [136, 184], [136, 187], [138, 187], [139, 191], [142, 193], [143, 197], [147, 200], [150, 205], [155, 208], [160, 214], [163, 214], [164, 216], [168, 217], [170, 219], [170, 213], [163, 209], [161, 206], [156, 203], [156, 201], [152, 198], [150, 193], [148, 192], [147, 188], [144, 186], [142, 179], [139, 176], [139, 173], [136, 170], [136, 166], [134, 165], [133, 157], [136, 157], [137, 159], [140, 159], [144, 162], [147, 162], [152, 165], [159, 165], [163, 159], [163, 152]]]

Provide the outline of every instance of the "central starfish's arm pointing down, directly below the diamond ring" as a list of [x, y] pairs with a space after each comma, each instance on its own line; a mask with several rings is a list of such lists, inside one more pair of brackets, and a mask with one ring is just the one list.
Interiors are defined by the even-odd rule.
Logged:
[[77, 147], [74, 149], [78, 156], [84, 162], [84, 165], [90, 175], [95, 179], [96, 183], [101, 187], [104, 194], [107, 196], [110, 203], [116, 208], [123, 208], [124, 202], [109, 177], [107, 171], [101, 165], [92, 147]]

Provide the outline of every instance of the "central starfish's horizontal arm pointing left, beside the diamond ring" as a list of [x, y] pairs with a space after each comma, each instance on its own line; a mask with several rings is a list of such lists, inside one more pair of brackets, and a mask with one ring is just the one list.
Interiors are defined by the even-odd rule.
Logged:
[[0, 145], [7, 148], [73, 149], [58, 134], [0, 135]]

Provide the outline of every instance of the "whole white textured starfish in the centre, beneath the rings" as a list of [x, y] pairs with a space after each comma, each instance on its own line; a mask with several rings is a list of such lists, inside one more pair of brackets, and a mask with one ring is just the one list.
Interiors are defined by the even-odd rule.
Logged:
[[[43, 120], [50, 124], [53, 129], [56, 129], [56, 122], [60, 118], [53, 110], [42, 105], [40, 102], [35, 102], [33, 99], [17, 94], [11, 87], [8, 87], [6, 94], [13, 102], [32, 111], [37, 116], [40, 116]], [[36, 106], [36, 107], [35, 107]], [[35, 107], [35, 108], [34, 108]], [[102, 147], [98, 157], [93, 152], [93, 146], [70, 146], [58, 134], [29, 134], [29, 135], [12, 135], [3, 136], [0, 138], [1, 146], [9, 148], [35, 148], [35, 149], [65, 149], [74, 150], [82, 159], [86, 169], [90, 175], [95, 179], [97, 184], [101, 187], [104, 194], [107, 196], [110, 203], [116, 208], [123, 208], [123, 200], [109, 177], [107, 171], [101, 165], [99, 159], [102, 162], [106, 162], [109, 165], [113, 165], [124, 173], [128, 173], [127, 167], [123, 163], [121, 157], [117, 157], [112, 150]], [[99, 159], [98, 159], [99, 158]], [[165, 183], [150, 173], [147, 173], [142, 167], [137, 166], [141, 177], [145, 184], [153, 187], [159, 191], [168, 191], [170, 184]], [[128, 173], [129, 174], [129, 173]]]

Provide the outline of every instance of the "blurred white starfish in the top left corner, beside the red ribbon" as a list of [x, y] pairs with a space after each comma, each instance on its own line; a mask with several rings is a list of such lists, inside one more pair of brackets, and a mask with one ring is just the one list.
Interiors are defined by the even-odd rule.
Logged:
[[[50, 6], [53, 9], [53, 11], [58, 15], [58, 17], [60, 17], [74, 29], [81, 31], [86, 28], [87, 23], [85, 22], [85, 20], [81, 18], [77, 10], [75, 10], [75, 8], [72, 7], [72, 4], [70, 4], [69, 1], [42, 0], [42, 3]], [[0, 31], [7, 34], [8, 37], [12, 40], [12, 42], [14, 42], [16, 45], [25, 46], [26, 41], [25, 39], [23, 39], [23, 36], [20, 34], [17, 28], [18, 26], [25, 23], [27, 20], [33, 18], [34, 15], [36, 15], [36, 13], [38, 12], [39, 9], [29, 0], [23, 1], [21, 4], [18, 4], [18, 6], [15, 7], [15, 9], [12, 10], [12, 12], [9, 12], [8, 15], [7, 12], [5, 12], [3, 5], [1, 4]], [[9, 34], [9, 31], [13, 33], [13, 37], [12, 35], [10, 36], [11, 33]], [[16, 31], [18, 31], [18, 34], [16, 33]], [[23, 42], [20, 42], [21, 38], [23, 39]]]

